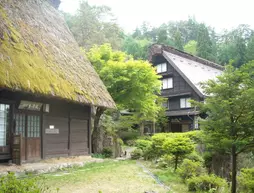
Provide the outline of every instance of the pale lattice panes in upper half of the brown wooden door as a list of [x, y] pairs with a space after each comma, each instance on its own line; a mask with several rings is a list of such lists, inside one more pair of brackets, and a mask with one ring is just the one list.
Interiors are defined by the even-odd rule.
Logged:
[[27, 137], [40, 137], [40, 116], [27, 116]]

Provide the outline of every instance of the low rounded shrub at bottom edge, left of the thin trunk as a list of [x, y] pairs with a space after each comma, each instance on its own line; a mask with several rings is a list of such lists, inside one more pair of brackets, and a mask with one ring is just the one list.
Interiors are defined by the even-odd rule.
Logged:
[[226, 180], [215, 175], [201, 175], [187, 180], [189, 191], [226, 192]]

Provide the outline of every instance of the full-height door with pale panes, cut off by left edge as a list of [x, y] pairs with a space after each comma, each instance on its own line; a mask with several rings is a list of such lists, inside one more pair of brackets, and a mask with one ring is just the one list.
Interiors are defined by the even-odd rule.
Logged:
[[10, 105], [0, 104], [0, 160], [11, 158]]

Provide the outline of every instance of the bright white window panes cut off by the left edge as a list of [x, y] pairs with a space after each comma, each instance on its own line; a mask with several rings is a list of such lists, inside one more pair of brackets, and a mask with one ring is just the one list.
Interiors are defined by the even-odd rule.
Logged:
[[0, 146], [7, 145], [10, 105], [0, 104]]

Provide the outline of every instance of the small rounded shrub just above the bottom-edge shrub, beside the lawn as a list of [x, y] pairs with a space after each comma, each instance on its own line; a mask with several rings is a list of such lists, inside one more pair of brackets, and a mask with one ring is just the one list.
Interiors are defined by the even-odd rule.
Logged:
[[201, 162], [184, 159], [180, 168], [178, 169], [180, 177], [186, 181], [187, 179], [195, 176], [200, 176], [205, 173], [205, 169], [202, 167]]

